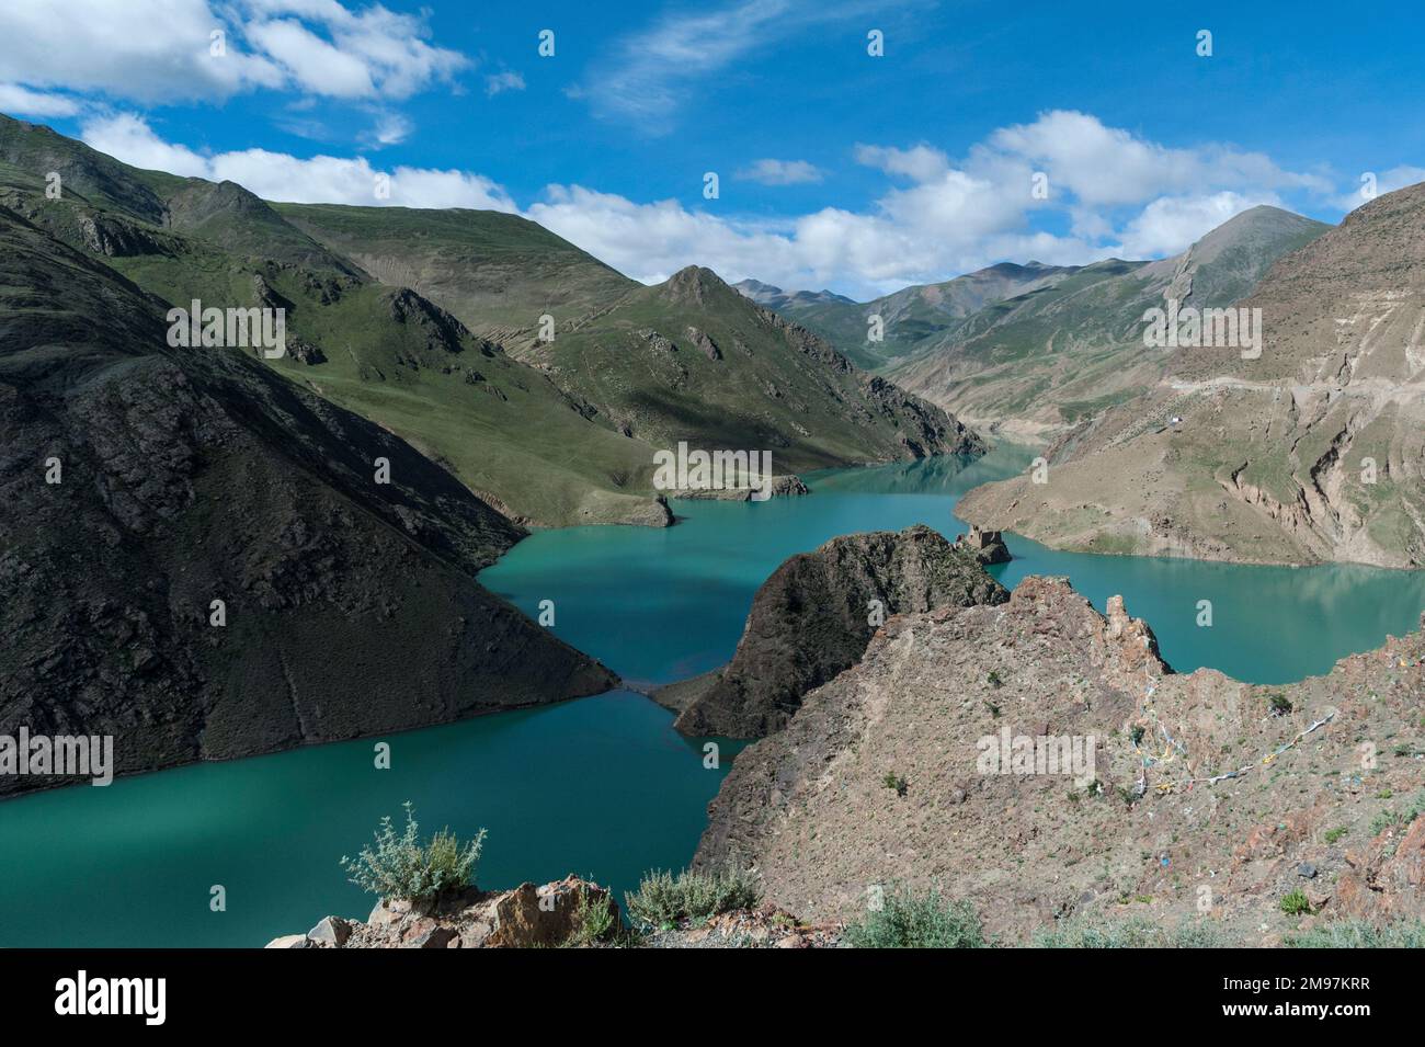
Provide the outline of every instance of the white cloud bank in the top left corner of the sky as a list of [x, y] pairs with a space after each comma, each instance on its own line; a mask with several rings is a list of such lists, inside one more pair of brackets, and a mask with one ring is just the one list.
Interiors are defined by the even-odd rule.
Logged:
[[0, 83], [141, 103], [255, 88], [400, 100], [469, 64], [428, 36], [425, 16], [379, 3], [359, 13], [338, 0], [6, 3]]

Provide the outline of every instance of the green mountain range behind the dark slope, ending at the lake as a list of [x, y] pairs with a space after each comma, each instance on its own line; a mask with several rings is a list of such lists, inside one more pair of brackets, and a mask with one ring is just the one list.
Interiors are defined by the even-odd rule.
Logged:
[[[48, 170], [61, 171], [60, 199], [43, 191]], [[620, 349], [647, 289], [513, 215], [272, 205], [6, 118], [0, 204], [170, 305], [285, 309], [291, 352], [272, 368], [522, 523], [668, 524], [653, 476], [671, 434], [707, 450], [785, 449], [779, 469], [978, 447], [805, 332], [768, 336], [731, 292], [712, 312], [664, 302], [640, 321], [677, 338], [700, 323], [724, 339], [742, 330], [755, 348], [751, 365], [694, 365], [698, 382], [670, 389]], [[546, 359], [544, 313], [577, 360]]]

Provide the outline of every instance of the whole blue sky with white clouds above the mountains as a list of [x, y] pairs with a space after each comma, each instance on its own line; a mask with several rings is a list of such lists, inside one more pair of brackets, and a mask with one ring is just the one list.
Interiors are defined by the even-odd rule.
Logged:
[[638, 279], [866, 298], [1425, 179], [1416, 10], [9, 0], [0, 111], [274, 199], [519, 211]]

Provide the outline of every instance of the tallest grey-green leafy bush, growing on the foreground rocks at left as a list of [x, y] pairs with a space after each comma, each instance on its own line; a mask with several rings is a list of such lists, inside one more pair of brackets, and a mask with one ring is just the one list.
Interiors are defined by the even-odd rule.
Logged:
[[412, 805], [408, 802], [405, 809], [406, 828], [400, 835], [396, 835], [389, 816], [382, 818], [375, 846], [362, 848], [356, 858], [342, 856], [342, 869], [351, 882], [372, 895], [410, 902], [426, 902], [442, 892], [473, 883], [484, 846], [484, 829], [463, 846], [446, 829], [432, 836], [429, 843], [422, 843]]

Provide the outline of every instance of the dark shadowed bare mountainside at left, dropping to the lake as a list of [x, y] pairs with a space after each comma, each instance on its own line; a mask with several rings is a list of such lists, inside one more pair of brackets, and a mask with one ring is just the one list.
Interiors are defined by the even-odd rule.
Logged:
[[158, 303], [3, 209], [0, 245], [0, 735], [113, 735], [130, 772], [614, 684], [475, 583], [523, 531], [446, 472], [170, 349]]

